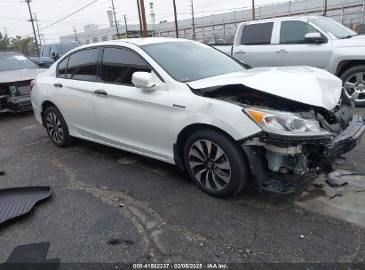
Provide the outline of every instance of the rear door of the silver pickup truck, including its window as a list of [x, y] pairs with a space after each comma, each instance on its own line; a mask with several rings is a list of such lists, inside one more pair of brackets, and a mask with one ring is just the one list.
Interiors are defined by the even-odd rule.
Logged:
[[273, 21], [244, 25], [241, 38], [236, 38], [234, 42], [233, 57], [251, 67], [272, 67], [274, 65], [273, 32]]

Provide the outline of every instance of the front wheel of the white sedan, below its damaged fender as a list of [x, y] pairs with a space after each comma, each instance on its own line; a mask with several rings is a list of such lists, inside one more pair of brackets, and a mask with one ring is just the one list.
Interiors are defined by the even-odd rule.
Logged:
[[[210, 156], [206, 158], [209, 146]], [[209, 195], [237, 195], [250, 177], [242, 149], [218, 131], [195, 131], [186, 139], [183, 155], [190, 178]]]

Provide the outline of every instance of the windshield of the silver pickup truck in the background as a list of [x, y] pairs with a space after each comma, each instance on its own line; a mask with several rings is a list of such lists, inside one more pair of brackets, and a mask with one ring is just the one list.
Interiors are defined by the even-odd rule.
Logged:
[[353, 32], [353, 30], [346, 28], [336, 20], [331, 20], [329, 18], [323, 17], [313, 19], [311, 21], [313, 22], [313, 24], [323, 29], [327, 34], [336, 36], [337, 38], [346, 38], [357, 35], [356, 32]]

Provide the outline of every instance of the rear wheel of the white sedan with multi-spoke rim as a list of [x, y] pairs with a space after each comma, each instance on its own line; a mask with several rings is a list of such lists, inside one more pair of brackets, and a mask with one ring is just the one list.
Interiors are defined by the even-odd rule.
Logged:
[[67, 123], [57, 107], [46, 108], [44, 125], [48, 136], [57, 147], [69, 147], [74, 142], [74, 139], [69, 135]]

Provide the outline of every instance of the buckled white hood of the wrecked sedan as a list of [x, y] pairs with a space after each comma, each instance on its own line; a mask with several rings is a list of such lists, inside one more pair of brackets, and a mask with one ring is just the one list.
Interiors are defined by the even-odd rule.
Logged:
[[243, 84], [258, 91], [328, 110], [337, 106], [342, 91], [342, 82], [337, 76], [315, 67], [252, 68], [187, 84], [193, 89]]

